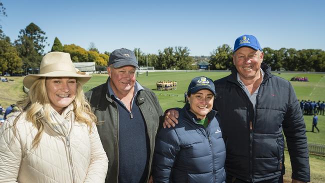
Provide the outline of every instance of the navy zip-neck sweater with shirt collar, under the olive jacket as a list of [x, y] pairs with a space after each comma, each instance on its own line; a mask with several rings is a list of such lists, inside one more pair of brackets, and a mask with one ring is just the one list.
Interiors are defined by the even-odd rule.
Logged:
[[136, 95], [144, 88], [135, 81], [131, 106], [128, 109], [114, 93], [110, 78], [107, 85], [118, 110], [118, 182], [144, 182], [149, 167], [150, 143], [146, 123], [135, 103]]

